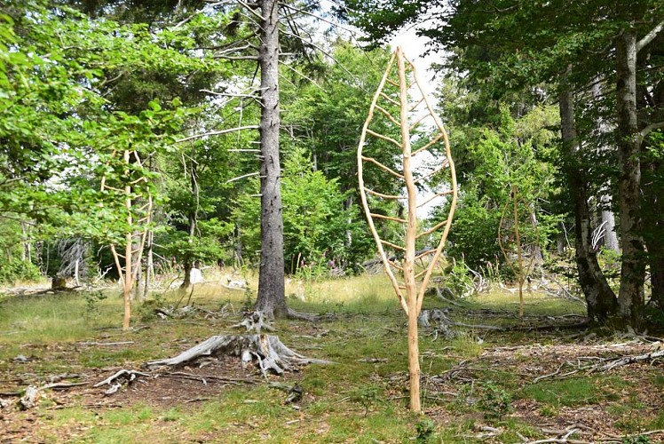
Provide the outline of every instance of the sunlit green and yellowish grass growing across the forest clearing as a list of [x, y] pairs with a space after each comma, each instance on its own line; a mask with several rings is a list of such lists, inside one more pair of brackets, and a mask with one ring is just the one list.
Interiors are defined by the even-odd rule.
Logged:
[[[250, 288], [255, 289], [256, 276], [247, 277]], [[287, 294], [295, 292], [297, 285], [291, 281]], [[485, 425], [502, 430], [494, 438], [496, 442], [517, 442], [519, 435], [532, 440], [546, 438], [538, 425], [556, 421], [569, 409], [600, 408], [624, 433], [664, 427], [664, 414], [653, 409], [652, 402], [634, 392], [632, 383], [620, 375], [581, 375], [530, 384], [535, 375], [518, 373], [536, 364], [531, 362], [527, 347], [569, 343], [565, 334], [537, 331], [487, 333], [469, 329], [450, 340], [423, 331], [423, 408], [428, 418], [411, 415], [407, 411], [406, 316], [389, 281], [383, 276], [363, 276], [307, 282], [305, 288], [304, 301], [289, 298], [289, 306], [326, 313], [327, 321], [315, 326], [278, 321], [279, 335], [294, 350], [336, 364], [311, 365], [286, 377], [304, 390], [297, 408], [284, 404], [284, 393], [266, 385], [227, 388], [192, 404], [143, 400], [115, 408], [85, 408], [83, 404], [91, 400], [72, 394], [64, 405], [56, 405], [47, 396], [40, 408], [12, 412], [13, 424], [33, 424], [37, 417], [40, 425], [33, 439], [48, 442], [479, 442], [475, 437]], [[150, 315], [154, 303], [145, 305], [142, 313], [141, 305], [135, 304], [132, 326], [141, 329], [123, 332], [122, 300], [117, 293], [109, 291], [101, 298], [76, 293], [0, 299], [0, 378], [28, 374], [48, 381], [51, 375], [66, 372], [101, 376], [107, 375], [108, 369], [138, 369], [145, 361], [171, 356], [197, 341], [229, 331], [247, 302], [244, 292], [208, 283], [194, 288], [190, 302], [209, 310], [230, 304], [235, 316], [163, 321]], [[159, 295], [158, 305], [182, 305], [188, 297], [188, 292], [169, 290]], [[520, 323], [514, 317], [518, 312], [515, 294], [493, 291], [463, 303], [465, 307], [453, 307], [451, 312], [460, 321]], [[427, 299], [425, 306], [440, 306], [440, 301]], [[486, 310], [500, 315], [478, 315]], [[463, 313], [468, 313], [467, 317], [460, 319]], [[578, 304], [526, 293], [526, 316], [581, 313], [583, 308]], [[90, 344], [121, 341], [131, 344]], [[500, 347], [518, 349], [510, 354], [509, 364], [486, 358], [486, 352]], [[19, 354], [33, 361], [13, 362]], [[465, 370], [457, 375], [454, 371], [460, 366]], [[429, 376], [452, 379], [441, 389]], [[652, 392], [661, 392], [664, 377], [653, 369], [643, 384], [652, 387]], [[534, 406], [529, 411], [536, 412], [537, 418], [526, 421], [514, 414], [519, 402]], [[640, 411], [649, 413], [636, 415]], [[426, 421], [431, 421], [432, 428]]]

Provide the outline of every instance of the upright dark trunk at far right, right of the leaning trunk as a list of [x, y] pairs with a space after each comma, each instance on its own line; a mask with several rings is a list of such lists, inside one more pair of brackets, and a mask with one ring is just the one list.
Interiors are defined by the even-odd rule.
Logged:
[[618, 110], [618, 209], [622, 266], [618, 294], [626, 325], [638, 327], [644, 308], [644, 241], [641, 232], [640, 140], [636, 120], [636, 31], [623, 29], [616, 38], [616, 107]]

